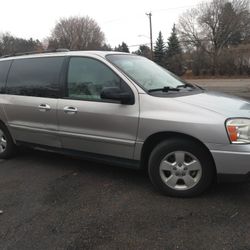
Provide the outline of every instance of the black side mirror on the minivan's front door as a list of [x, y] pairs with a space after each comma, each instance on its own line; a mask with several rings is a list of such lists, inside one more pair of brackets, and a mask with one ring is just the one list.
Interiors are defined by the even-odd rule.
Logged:
[[121, 104], [134, 104], [132, 93], [122, 91], [117, 87], [105, 87], [101, 91], [101, 98], [107, 100], [120, 101]]

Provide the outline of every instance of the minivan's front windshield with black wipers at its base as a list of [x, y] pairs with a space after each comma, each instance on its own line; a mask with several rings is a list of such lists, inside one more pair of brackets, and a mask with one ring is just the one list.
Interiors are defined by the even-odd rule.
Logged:
[[106, 58], [147, 92], [195, 88], [145, 57], [112, 54]]

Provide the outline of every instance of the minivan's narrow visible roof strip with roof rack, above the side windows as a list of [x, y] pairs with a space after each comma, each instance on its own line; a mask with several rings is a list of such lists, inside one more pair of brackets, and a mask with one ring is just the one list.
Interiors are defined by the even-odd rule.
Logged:
[[[54, 56], [100, 56], [105, 58], [107, 55], [115, 55], [115, 54], [124, 54], [129, 55], [129, 53], [125, 52], [117, 52], [117, 51], [98, 51], [98, 50], [79, 50], [79, 51], [62, 51], [62, 52], [34, 52], [33, 54], [27, 52], [27, 54], [17, 54], [17, 55], [10, 55], [10, 56], [3, 56], [0, 57], [0, 61], [5, 60], [13, 60], [13, 59], [25, 59], [25, 58], [42, 58], [42, 57], [54, 57]], [[130, 54], [131, 55], [131, 54]]]

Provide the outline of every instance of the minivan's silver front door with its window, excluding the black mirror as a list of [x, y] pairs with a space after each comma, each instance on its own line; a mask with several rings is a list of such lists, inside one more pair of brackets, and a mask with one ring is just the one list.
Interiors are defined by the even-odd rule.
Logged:
[[[129, 88], [133, 105], [102, 100], [104, 87]], [[105, 63], [71, 57], [65, 99], [58, 101], [62, 146], [90, 153], [133, 158], [139, 120], [138, 94]]]

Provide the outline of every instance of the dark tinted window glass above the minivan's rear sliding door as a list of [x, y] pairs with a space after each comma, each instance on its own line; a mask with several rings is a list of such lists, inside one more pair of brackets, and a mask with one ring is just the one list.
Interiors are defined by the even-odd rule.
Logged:
[[6, 94], [57, 98], [63, 57], [14, 60]]

